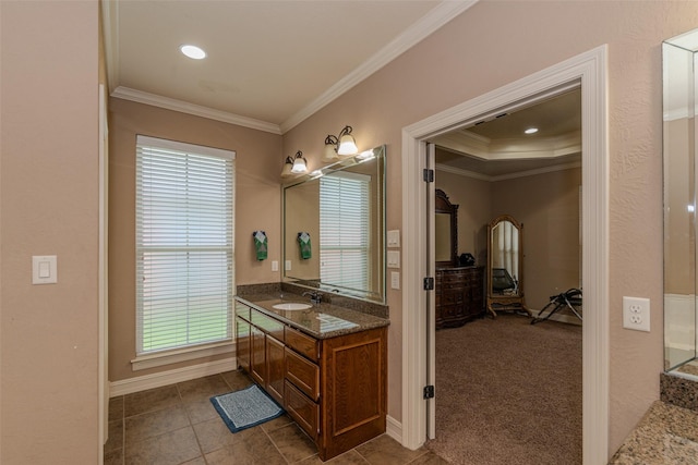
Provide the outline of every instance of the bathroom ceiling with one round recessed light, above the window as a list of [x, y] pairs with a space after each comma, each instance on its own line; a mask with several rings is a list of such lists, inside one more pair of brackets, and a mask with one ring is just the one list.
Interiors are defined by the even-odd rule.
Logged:
[[109, 90], [282, 134], [476, 1], [103, 0]]

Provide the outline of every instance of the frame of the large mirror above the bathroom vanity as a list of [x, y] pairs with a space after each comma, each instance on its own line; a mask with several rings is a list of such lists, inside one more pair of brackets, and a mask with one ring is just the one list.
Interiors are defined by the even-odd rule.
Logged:
[[[371, 155], [369, 152], [373, 152], [372, 156], [366, 156], [366, 155]], [[376, 257], [376, 260], [378, 260], [380, 262], [377, 267], [381, 273], [381, 276], [377, 279], [378, 289], [375, 291], [349, 290], [349, 289], [342, 289], [341, 286], [338, 286], [336, 284], [322, 283], [322, 281], [320, 281], [320, 277], [317, 281], [293, 278], [287, 274], [288, 272], [286, 271], [286, 267], [284, 267], [284, 272], [281, 274], [282, 282], [298, 285], [300, 287], [332, 292], [333, 294], [336, 294], [336, 295], [358, 298], [361, 301], [366, 301], [366, 302], [371, 302], [380, 305], [385, 305], [387, 303], [386, 278], [385, 278], [386, 277], [386, 258], [385, 258], [386, 257], [386, 205], [387, 205], [386, 204], [386, 176], [385, 176], [386, 164], [387, 164], [386, 154], [387, 154], [386, 145], [381, 145], [372, 149], [364, 150], [352, 157], [342, 157], [342, 159], [340, 159], [337, 162], [334, 162], [332, 164], [328, 164], [326, 167], [312, 171], [311, 173], [296, 176], [290, 181], [281, 184], [281, 231], [282, 231], [281, 252], [282, 252], [282, 262], [286, 262], [287, 253], [288, 253], [287, 244], [286, 244], [286, 189], [305, 184], [308, 182], [320, 180], [320, 178], [324, 175], [332, 174], [335, 172], [341, 172], [348, 168], [362, 164], [371, 160], [375, 160], [376, 162], [380, 162], [380, 164], [376, 167], [376, 170], [375, 170], [375, 173], [378, 174], [377, 176], [380, 182], [378, 192], [381, 197], [378, 203], [376, 204], [381, 209], [380, 219], [377, 221], [378, 223], [377, 227], [380, 228], [380, 231], [376, 234], [380, 242], [380, 244], [376, 247], [380, 249], [376, 250], [376, 253], [374, 254]], [[317, 246], [320, 246], [320, 241], [317, 241]]]

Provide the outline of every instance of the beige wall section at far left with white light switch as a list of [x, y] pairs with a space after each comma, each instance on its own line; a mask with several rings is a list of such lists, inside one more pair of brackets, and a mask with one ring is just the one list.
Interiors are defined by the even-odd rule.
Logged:
[[[96, 464], [97, 2], [0, 2], [0, 463]], [[32, 256], [58, 283], [32, 285]]]

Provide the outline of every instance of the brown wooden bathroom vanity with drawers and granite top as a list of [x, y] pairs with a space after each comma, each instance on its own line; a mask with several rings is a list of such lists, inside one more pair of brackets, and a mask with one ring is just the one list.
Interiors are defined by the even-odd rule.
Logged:
[[238, 366], [326, 461], [385, 432], [389, 321], [326, 303], [288, 304], [268, 295], [236, 297]]

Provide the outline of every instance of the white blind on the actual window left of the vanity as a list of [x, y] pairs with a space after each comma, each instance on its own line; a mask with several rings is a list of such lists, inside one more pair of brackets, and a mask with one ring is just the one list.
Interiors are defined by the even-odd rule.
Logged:
[[136, 354], [232, 339], [234, 152], [136, 140]]

